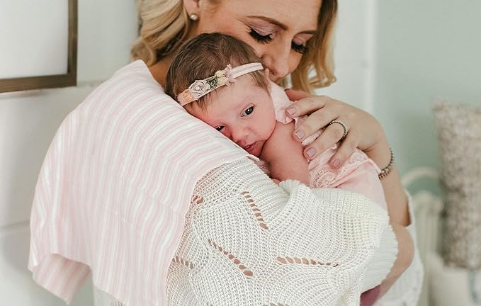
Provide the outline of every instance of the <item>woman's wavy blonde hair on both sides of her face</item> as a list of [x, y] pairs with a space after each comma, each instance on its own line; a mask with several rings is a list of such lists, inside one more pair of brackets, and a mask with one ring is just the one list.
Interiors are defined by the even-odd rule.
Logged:
[[[175, 54], [186, 39], [191, 21], [182, 0], [137, 0], [140, 13], [140, 38], [132, 47], [134, 59], [151, 66], [162, 57]], [[209, 0], [218, 2], [219, 0]], [[317, 16], [317, 33], [307, 44], [307, 52], [290, 74], [294, 89], [312, 91], [334, 81], [332, 35], [337, 14], [337, 0], [322, 0]], [[312, 74], [312, 70], [315, 74]], [[281, 81], [285, 85], [285, 78]]]

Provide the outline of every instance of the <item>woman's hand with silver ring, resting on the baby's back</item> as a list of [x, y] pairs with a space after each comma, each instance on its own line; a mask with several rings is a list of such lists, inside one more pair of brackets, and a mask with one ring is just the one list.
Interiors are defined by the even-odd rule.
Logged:
[[[289, 117], [309, 115], [305, 122], [294, 131], [293, 137], [295, 140], [305, 140], [306, 137], [317, 132], [317, 130], [325, 128], [315, 142], [305, 147], [306, 158], [313, 159], [317, 154], [326, 151], [342, 139], [344, 128], [340, 124], [329, 125], [332, 120], [339, 120], [348, 128], [348, 133], [342, 140], [339, 149], [329, 160], [329, 164], [333, 168], [338, 168], [344, 164], [356, 148], [361, 149], [373, 159], [375, 157], [379, 159], [379, 152], [370, 156], [370, 152], [374, 152], [379, 147], [382, 152], [385, 152], [383, 154], [385, 158], [382, 159], [387, 158], [389, 149], [386, 149], [388, 145], [383, 128], [378, 120], [375, 120], [366, 111], [327, 96], [312, 96], [304, 91], [287, 89], [285, 94], [288, 95], [290, 101], [297, 101], [286, 108], [286, 115]], [[375, 162], [382, 165], [385, 160], [375, 160]], [[388, 158], [387, 162], [389, 162]]]

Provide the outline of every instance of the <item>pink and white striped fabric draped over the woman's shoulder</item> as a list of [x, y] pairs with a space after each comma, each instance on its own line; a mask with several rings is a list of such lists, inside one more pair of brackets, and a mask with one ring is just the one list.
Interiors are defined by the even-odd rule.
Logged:
[[92, 273], [126, 305], [164, 305], [194, 185], [247, 152], [132, 62], [70, 113], [40, 171], [28, 268], [67, 303]]

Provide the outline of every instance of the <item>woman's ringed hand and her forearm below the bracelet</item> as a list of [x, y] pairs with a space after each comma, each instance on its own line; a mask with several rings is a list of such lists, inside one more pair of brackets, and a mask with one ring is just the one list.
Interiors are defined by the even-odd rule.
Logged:
[[[285, 109], [286, 115], [296, 117], [310, 114], [302, 125], [293, 132], [295, 140], [302, 141], [317, 130], [325, 128], [324, 132], [317, 137], [311, 145], [305, 147], [304, 155], [313, 159], [339, 142], [344, 135], [344, 128], [340, 124], [329, 123], [332, 120], [339, 120], [349, 129], [346, 137], [342, 140], [339, 149], [329, 160], [332, 168], [338, 168], [356, 149], [361, 149], [380, 169], [390, 163], [391, 153], [389, 144], [384, 135], [383, 128], [378, 120], [354, 106], [334, 100], [327, 96], [312, 96], [304, 91], [288, 89], [285, 93], [290, 101], [296, 101], [292, 106]], [[407, 206], [407, 196], [402, 186], [396, 166], [385, 179], [383, 184], [384, 194], [390, 210], [390, 217], [393, 222], [407, 226], [411, 223]]]

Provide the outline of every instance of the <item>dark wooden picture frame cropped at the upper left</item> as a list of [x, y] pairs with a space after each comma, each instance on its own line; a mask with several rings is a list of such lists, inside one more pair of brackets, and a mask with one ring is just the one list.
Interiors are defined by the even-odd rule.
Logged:
[[77, 0], [68, 0], [68, 55], [67, 73], [40, 77], [18, 77], [0, 79], [0, 93], [25, 91], [30, 89], [49, 89], [77, 85]]

